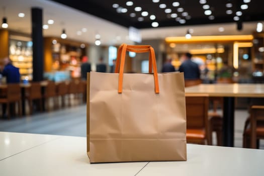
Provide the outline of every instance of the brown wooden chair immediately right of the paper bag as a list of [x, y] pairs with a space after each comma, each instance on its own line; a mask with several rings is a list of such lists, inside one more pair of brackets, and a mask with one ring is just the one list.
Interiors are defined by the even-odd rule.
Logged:
[[186, 95], [187, 142], [211, 145], [208, 95]]

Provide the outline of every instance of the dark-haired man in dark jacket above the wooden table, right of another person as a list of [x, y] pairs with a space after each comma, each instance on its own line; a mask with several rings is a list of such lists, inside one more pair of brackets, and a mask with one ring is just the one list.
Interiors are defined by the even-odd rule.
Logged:
[[184, 62], [179, 68], [180, 72], [184, 72], [185, 79], [200, 79], [200, 69], [197, 63], [192, 61], [192, 54], [185, 53], [183, 56]]

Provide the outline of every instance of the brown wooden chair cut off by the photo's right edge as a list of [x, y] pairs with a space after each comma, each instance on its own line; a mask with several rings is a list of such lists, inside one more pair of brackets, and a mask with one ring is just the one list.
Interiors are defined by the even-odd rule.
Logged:
[[258, 148], [259, 139], [264, 139], [264, 106], [252, 106], [243, 132], [243, 147]]

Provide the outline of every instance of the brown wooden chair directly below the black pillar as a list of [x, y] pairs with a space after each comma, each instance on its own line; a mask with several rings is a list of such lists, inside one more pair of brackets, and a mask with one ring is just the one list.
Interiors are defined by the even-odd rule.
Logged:
[[39, 82], [32, 82], [26, 91], [25, 98], [29, 102], [30, 114], [33, 113], [33, 100], [38, 100], [40, 111], [42, 111], [42, 93], [41, 85]]

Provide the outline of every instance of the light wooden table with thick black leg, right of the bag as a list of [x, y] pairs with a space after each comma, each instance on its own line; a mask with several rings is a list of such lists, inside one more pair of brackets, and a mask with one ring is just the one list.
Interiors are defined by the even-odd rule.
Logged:
[[235, 98], [264, 98], [264, 84], [199, 84], [186, 87], [188, 94], [207, 94], [209, 97], [223, 97], [223, 145], [234, 146]]

